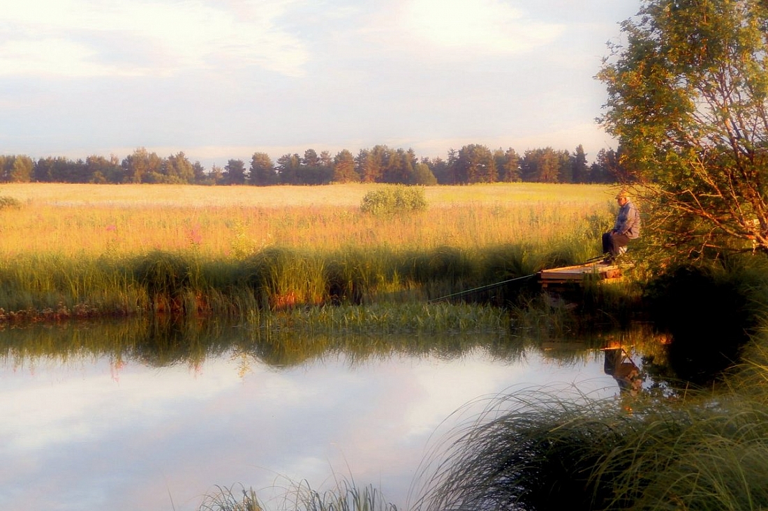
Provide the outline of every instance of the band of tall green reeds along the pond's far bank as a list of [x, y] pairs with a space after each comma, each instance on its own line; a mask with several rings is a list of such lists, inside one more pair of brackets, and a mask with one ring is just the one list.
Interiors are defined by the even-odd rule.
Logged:
[[[533, 275], [553, 259], [540, 247], [487, 249], [440, 246], [414, 250], [269, 247], [241, 259], [210, 258], [194, 250], [77, 257], [19, 255], [0, 265], [0, 308], [43, 315], [243, 315], [326, 304], [427, 302], [454, 292]], [[502, 302], [514, 298], [495, 296]], [[468, 297], [488, 299], [488, 295]]]

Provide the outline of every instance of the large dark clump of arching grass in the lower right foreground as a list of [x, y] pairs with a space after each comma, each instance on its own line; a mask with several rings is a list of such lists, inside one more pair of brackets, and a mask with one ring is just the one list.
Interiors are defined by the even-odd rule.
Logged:
[[627, 413], [521, 393], [449, 440], [417, 509], [768, 506], [768, 413], [742, 399]]

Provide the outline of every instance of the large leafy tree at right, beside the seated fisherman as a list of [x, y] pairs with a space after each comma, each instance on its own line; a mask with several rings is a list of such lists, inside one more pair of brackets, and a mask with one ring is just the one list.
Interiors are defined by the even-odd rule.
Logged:
[[652, 225], [699, 254], [768, 252], [766, 28], [764, 1], [644, 0], [598, 74]]

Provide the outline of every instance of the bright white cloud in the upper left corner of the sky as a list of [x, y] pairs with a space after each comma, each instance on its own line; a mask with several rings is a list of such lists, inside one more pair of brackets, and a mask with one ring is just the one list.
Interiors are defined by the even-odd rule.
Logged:
[[258, 66], [299, 76], [309, 52], [278, 25], [291, 3], [15, 2], [4, 8], [0, 74], [92, 77]]

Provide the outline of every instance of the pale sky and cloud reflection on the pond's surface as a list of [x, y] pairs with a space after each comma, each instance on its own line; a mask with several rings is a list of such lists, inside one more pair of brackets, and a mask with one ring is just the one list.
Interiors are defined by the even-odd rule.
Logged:
[[[601, 380], [601, 363], [555, 367], [489, 361], [481, 351], [453, 361], [392, 358], [352, 369], [327, 360], [276, 370], [210, 360], [201, 371], [127, 364], [38, 367], [0, 374], [6, 414], [0, 487], [4, 509], [195, 509], [216, 484], [262, 489], [288, 478], [313, 488], [354, 477], [405, 503], [429, 437], [458, 407], [515, 385]], [[612, 389], [611, 389], [612, 391]], [[609, 394], [610, 395], [610, 394]], [[434, 440], [434, 439], [433, 439]]]

